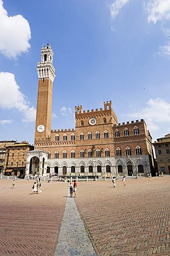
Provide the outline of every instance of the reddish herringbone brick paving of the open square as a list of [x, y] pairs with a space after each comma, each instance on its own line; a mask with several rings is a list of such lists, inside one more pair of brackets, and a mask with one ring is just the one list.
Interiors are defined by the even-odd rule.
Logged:
[[[17, 180], [12, 189], [12, 180], [0, 180], [0, 255], [54, 255], [68, 183], [42, 181], [39, 195], [31, 194], [32, 184]], [[96, 252], [170, 255], [170, 177], [127, 179], [126, 184], [78, 182], [75, 201]]]

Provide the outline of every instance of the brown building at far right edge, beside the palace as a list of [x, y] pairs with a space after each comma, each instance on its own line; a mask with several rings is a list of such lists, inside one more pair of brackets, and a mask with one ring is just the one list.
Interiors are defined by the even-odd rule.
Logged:
[[170, 174], [170, 133], [153, 142], [158, 171]]

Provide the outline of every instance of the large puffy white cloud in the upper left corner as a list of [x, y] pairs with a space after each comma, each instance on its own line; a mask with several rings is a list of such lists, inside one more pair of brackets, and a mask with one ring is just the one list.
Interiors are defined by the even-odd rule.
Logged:
[[16, 58], [28, 51], [30, 38], [28, 21], [20, 14], [8, 17], [0, 0], [0, 52], [9, 58]]

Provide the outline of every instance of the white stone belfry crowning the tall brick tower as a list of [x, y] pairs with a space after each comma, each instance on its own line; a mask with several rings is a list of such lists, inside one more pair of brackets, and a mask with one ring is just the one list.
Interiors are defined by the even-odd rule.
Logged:
[[52, 83], [55, 78], [55, 68], [53, 67], [53, 51], [49, 44], [41, 49], [41, 62], [37, 65], [38, 78], [50, 78]]

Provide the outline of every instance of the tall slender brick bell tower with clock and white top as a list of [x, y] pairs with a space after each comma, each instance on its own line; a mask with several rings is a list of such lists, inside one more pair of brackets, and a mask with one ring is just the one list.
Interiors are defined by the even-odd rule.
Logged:
[[35, 142], [51, 137], [52, 92], [55, 69], [53, 51], [49, 44], [41, 49], [41, 62], [37, 64], [38, 96], [35, 126]]

